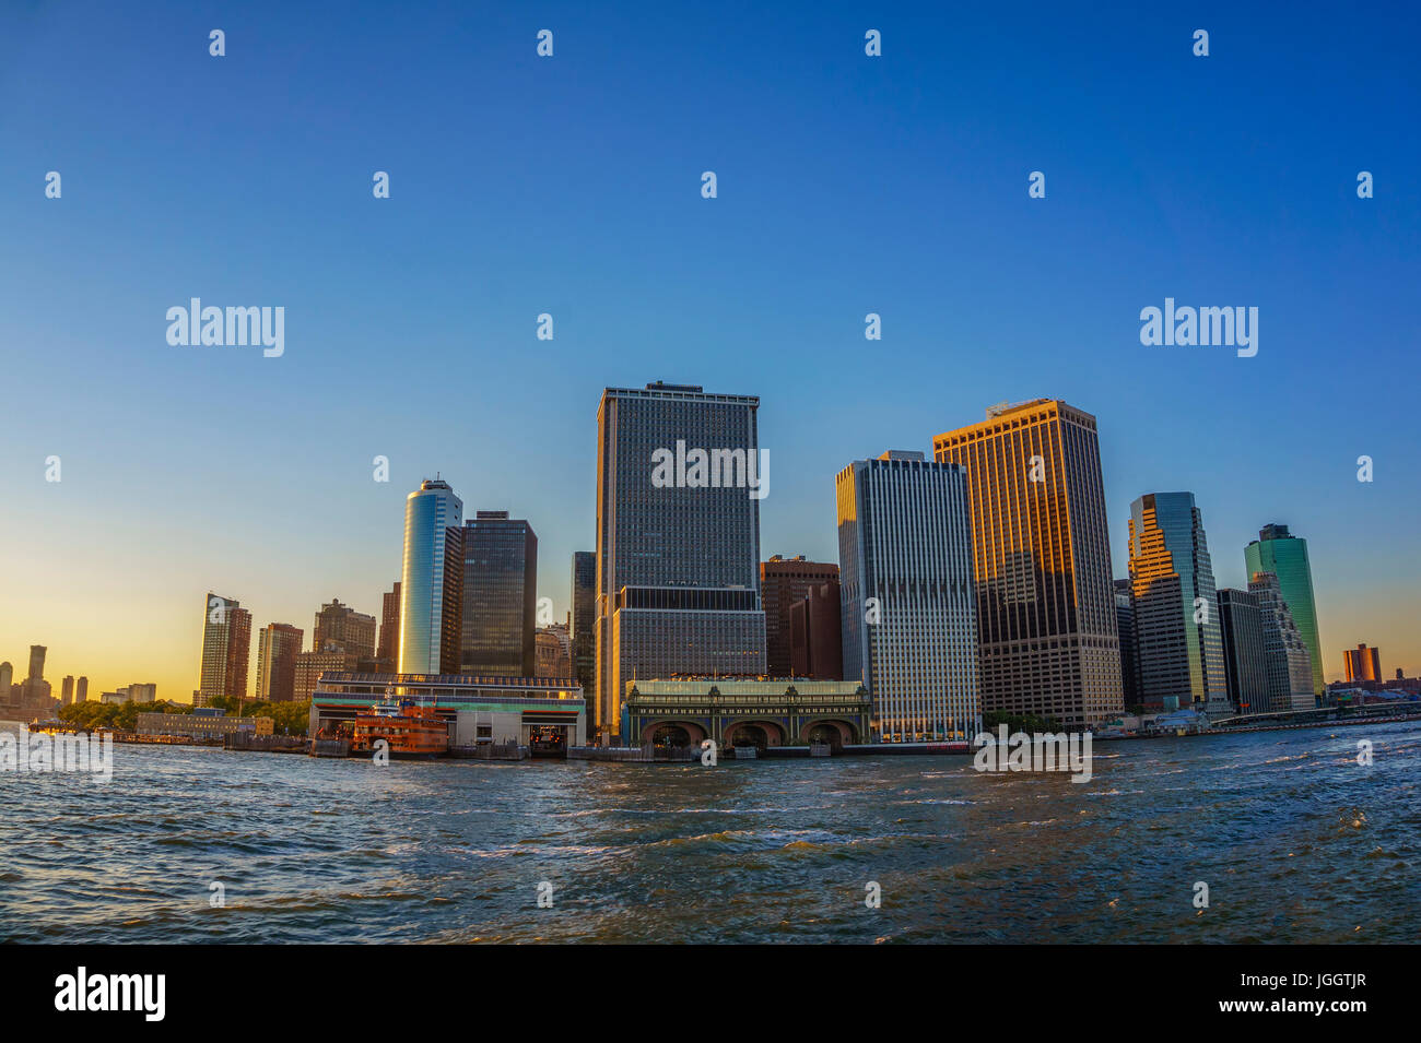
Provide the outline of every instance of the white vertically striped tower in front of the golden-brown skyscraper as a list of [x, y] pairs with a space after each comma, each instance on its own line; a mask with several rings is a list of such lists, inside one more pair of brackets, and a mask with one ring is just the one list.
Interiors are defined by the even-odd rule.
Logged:
[[982, 731], [968, 478], [890, 450], [838, 473], [844, 677], [872, 695], [878, 742]]

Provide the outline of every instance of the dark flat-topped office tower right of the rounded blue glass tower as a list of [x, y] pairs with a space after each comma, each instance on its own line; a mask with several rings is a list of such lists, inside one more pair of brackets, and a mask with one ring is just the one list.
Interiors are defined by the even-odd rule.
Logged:
[[507, 511], [463, 524], [460, 674], [533, 677], [537, 623], [537, 535]]

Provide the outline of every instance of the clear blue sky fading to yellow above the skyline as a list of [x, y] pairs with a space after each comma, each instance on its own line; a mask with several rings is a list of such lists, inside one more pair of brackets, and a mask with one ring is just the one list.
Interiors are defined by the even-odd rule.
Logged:
[[[1329, 680], [1421, 671], [1414, 7], [953, 7], [0, 6], [0, 660], [186, 700], [209, 589], [378, 614], [436, 470], [561, 617], [601, 389], [665, 379], [760, 396], [764, 556], [837, 559], [848, 461], [1063, 397], [1117, 576], [1189, 490], [1219, 586], [1307, 538]], [[286, 353], [171, 346], [192, 297]], [[1165, 297], [1258, 355], [1142, 346]]]

